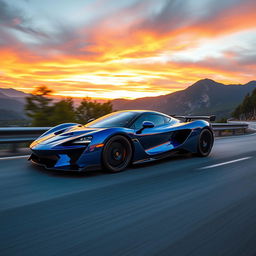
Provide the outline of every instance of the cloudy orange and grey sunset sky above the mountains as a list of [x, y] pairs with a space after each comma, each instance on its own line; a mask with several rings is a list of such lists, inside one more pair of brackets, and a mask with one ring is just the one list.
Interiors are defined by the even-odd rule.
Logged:
[[256, 75], [256, 0], [0, 0], [0, 87], [138, 98]]

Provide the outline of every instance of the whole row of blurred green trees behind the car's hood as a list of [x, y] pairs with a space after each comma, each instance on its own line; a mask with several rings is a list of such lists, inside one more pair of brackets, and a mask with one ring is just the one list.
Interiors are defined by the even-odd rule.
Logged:
[[54, 126], [70, 122], [85, 124], [92, 118], [113, 111], [111, 102], [99, 103], [84, 98], [78, 106], [75, 106], [72, 98], [54, 102], [49, 97], [51, 93], [52, 90], [46, 86], [40, 86], [26, 98], [25, 111], [31, 120], [31, 126]]

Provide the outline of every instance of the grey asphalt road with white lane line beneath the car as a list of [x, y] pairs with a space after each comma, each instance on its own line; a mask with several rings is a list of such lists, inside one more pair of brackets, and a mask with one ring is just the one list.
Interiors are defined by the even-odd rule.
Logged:
[[256, 135], [118, 174], [1, 159], [0, 255], [256, 255]]

